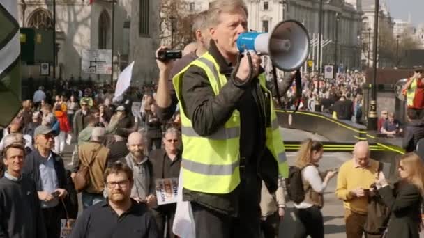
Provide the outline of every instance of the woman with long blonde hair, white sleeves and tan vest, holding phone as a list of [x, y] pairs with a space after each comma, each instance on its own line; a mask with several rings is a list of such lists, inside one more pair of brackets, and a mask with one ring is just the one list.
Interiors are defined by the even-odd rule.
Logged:
[[[323, 145], [311, 139], [303, 141], [298, 151], [296, 166], [301, 168], [305, 199], [301, 203], [294, 204], [298, 218], [295, 238], [306, 238], [308, 235], [311, 238], [324, 238], [324, 219], [321, 214], [321, 208], [324, 206], [323, 193], [336, 171], [319, 173], [318, 164], [323, 153]], [[324, 175], [324, 180], [321, 175]]]

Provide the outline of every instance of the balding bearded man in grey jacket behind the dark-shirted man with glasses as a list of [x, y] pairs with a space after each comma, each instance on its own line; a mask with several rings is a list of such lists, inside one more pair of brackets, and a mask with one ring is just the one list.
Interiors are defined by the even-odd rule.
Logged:
[[130, 167], [134, 174], [131, 198], [139, 203], [147, 203], [149, 207], [156, 204], [155, 181], [149, 157], [144, 155], [146, 138], [140, 132], [132, 132], [128, 136], [127, 148], [130, 153], [123, 163]]

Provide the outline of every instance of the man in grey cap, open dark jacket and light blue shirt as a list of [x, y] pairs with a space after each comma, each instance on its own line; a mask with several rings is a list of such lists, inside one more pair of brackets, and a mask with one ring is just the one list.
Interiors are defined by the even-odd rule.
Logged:
[[36, 182], [47, 237], [57, 238], [61, 233], [63, 211], [60, 200], [66, 197], [70, 188], [67, 188], [63, 160], [52, 152], [54, 146], [52, 128], [45, 125], [38, 126], [34, 138], [36, 150], [25, 158], [23, 173]]

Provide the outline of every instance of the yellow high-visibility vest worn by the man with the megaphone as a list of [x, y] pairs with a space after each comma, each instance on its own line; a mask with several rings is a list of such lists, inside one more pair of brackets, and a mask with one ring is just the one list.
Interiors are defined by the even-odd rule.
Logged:
[[[181, 132], [183, 140], [183, 187], [203, 193], [225, 194], [233, 191], [240, 183], [240, 112], [234, 110], [232, 116], [221, 128], [210, 136], [199, 136], [192, 127], [192, 122], [185, 115], [181, 100], [181, 83], [184, 73], [191, 65], [202, 68], [208, 76], [215, 95], [227, 84], [227, 78], [220, 74], [218, 63], [211, 54], [206, 53], [197, 58], [173, 78], [176, 96], [179, 99], [181, 113]], [[271, 99], [271, 92], [266, 88], [264, 74], [259, 76], [260, 84]], [[284, 144], [278, 128], [275, 111], [271, 105], [271, 126], [266, 127], [266, 147], [278, 162], [281, 177], [287, 177], [289, 169]]]

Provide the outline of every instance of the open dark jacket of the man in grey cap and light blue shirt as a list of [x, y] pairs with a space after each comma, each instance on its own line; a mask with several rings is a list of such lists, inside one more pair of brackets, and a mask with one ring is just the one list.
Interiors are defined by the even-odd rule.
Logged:
[[[66, 191], [68, 191], [69, 193], [71, 188], [70, 184], [66, 180], [65, 166], [63, 165], [63, 160], [58, 154], [55, 154], [54, 152], [51, 153], [52, 159], [54, 159], [54, 170], [56, 170], [59, 188], [66, 189]], [[22, 173], [24, 175], [31, 177], [31, 179], [36, 182], [37, 191], [43, 191], [43, 184], [41, 182], [39, 168], [42, 159], [44, 158], [40, 155], [38, 150], [34, 150], [25, 157], [25, 165], [22, 169]]]

